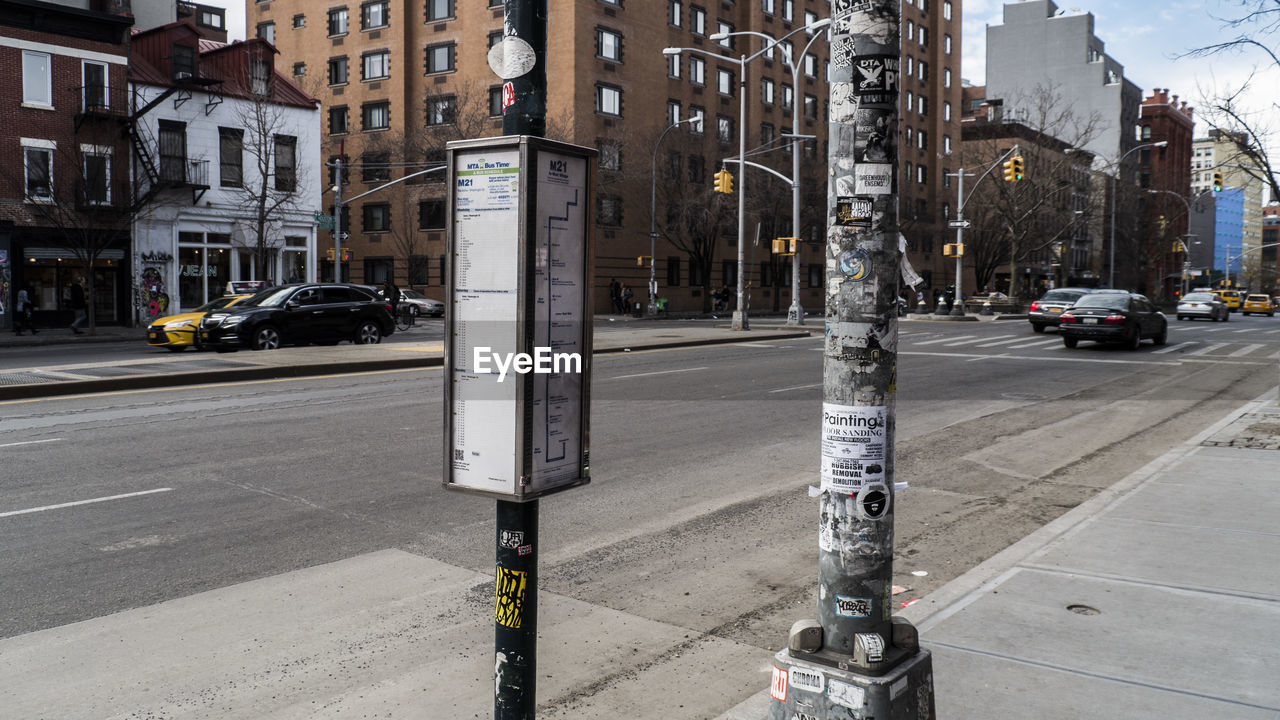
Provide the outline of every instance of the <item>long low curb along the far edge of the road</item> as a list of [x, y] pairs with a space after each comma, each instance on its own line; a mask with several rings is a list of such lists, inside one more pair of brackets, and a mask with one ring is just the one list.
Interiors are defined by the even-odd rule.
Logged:
[[[671, 342], [620, 345], [593, 348], [593, 355], [616, 355], [640, 350], [668, 350], [673, 347], [695, 347], [700, 345], [731, 345], [744, 341], [790, 340], [809, 337], [809, 332], [762, 333], [750, 337], [714, 337], [680, 340]], [[436, 368], [444, 364], [442, 356], [394, 357], [387, 360], [344, 360], [338, 363], [307, 363], [301, 365], [271, 365], [259, 368], [228, 368], [220, 370], [192, 370], [188, 373], [166, 373], [148, 375], [119, 375], [92, 380], [60, 380], [52, 383], [28, 383], [0, 386], [0, 401], [32, 400], [37, 397], [59, 397], [68, 395], [90, 395], [116, 392], [124, 389], [151, 389], [157, 387], [187, 387], [197, 384], [216, 384], [243, 380], [274, 380], [280, 378], [305, 378], [342, 375], [347, 373], [367, 373], [378, 370], [403, 370], [412, 368]]]

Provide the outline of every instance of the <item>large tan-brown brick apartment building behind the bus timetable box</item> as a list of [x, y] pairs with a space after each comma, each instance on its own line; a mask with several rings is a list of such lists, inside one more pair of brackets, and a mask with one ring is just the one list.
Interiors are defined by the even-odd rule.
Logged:
[[[324, 161], [351, 163], [352, 197], [389, 179], [439, 165], [445, 141], [500, 135], [500, 83], [486, 54], [502, 37], [500, 0], [246, 1], [250, 35], [273, 42], [282, 69], [320, 97]], [[672, 310], [709, 305], [707, 288], [736, 283], [736, 199], [712, 192], [721, 160], [737, 152], [791, 174], [787, 133], [812, 135], [803, 150], [800, 228], [791, 231], [790, 187], [750, 170], [748, 277], [754, 311], [790, 304], [790, 259], [771, 256], [769, 240], [799, 236], [801, 304], [823, 302], [826, 232], [827, 47], [800, 53], [804, 26], [823, 18], [823, 0], [549, 0], [548, 132], [599, 150], [595, 206], [596, 307], [608, 306], [611, 278], [644, 299], [649, 278], [650, 183], [657, 187], [655, 272]], [[947, 205], [945, 174], [959, 142], [960, 4], [902, 5], [904, 58], [899, 133], [902, 231], [915, 268], [932, 279], [941, 256]], [[748, 117], [739, 118], [739, 58], [758, 37], [713, 41], [717, 32], [790, 36], [786, 49], [746, 65]], [[667, 56], [663, 47], [686, 47]], [[796, 60], [792, 77], [787, 58]], [[676, 119], [700, 114], [655, 143]], [[657, 169], [657, 177], [652, 173]], [[731, 170], [736, 169], [731, 168]], [[332, 170], [326, 167], [326, 173]], [[444, 278], [444, 187], [426, 174], [347, 206], [351, 279], [440, 296]], [[741, 186], [737, 178], [735, 188]], [[325, 195], [332, 208], [333, 195]], [[332, 213], [332, 210], [330, 210]], [[325, 233], [326, 234], [326, 233]], [[759, 237], [759, 241], [756, 241]], [[326, 240], [321, 237], [321, 245]], [[332, 277], [321, 263], [321, 275]], [[707, 305], [704, 305], [707, 304]]]

